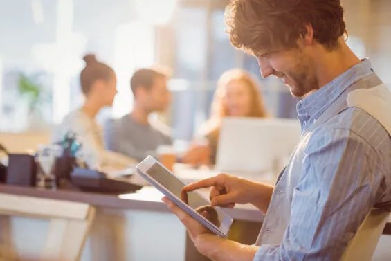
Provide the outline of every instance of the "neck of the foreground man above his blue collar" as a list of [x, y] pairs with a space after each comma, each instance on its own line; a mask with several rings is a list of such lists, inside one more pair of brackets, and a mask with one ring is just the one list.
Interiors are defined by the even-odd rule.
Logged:
[[319, 88], [361, 62], [344, 41], [340, 42], [338, 50], [325, 53], [320, 61], [316, 64]]

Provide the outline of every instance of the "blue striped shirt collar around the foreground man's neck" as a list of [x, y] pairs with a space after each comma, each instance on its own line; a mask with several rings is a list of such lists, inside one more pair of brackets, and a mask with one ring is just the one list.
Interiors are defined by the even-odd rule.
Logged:
[[317, 120], [343, 91], [371, 73], [374, 73], [374, 70], [370, 60], [362, 60], [359, 64], [356, 64], [318, 89], [318, 91], [300, 100], [296, 109], [298, 110], [298, 119], [300, 120], [302, 130], [307, 129], [314, 120]]

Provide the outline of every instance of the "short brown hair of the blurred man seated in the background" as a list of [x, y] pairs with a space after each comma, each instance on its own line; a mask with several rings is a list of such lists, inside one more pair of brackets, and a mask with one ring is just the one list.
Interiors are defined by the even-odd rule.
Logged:
[[133, 95], [136, 96], [136, 89], [144, 88], [151, 89], [154, 85], [154, 80], [159, 77], [167, 77], [167, 74], [155, 69], [138, 69], [134, 72], [130, 79], [130, 87]]

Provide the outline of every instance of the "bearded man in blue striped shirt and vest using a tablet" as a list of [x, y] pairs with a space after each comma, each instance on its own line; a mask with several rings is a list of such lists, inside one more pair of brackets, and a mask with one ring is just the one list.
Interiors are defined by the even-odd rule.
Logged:
[[212, 206], [266, 213], [255, 246], [217, 237], [163, 201], [212, 260], [340, 260], [370, 208], [391, 200], [390, 92], [345, 44], [339, 0], [231, 0], [226, 21], [262, 76], [302, 98], [302, 138], [275, 187], [219, 174], [184, 188], [211, 187]]

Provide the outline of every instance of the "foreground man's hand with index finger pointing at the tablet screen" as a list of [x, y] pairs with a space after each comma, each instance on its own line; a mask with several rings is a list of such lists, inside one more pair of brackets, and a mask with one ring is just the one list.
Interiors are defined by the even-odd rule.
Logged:
[[183, 190], [190, 192], [199, 188], [209, 187], [212, 206], [233, 208], [235, 203], [251, 203], [263, 213], [266, 213], [273, 193], [272, 186], [240, 179], [227, 174], [219, 174], [216, 177], [197, 181], [185, 186]]

